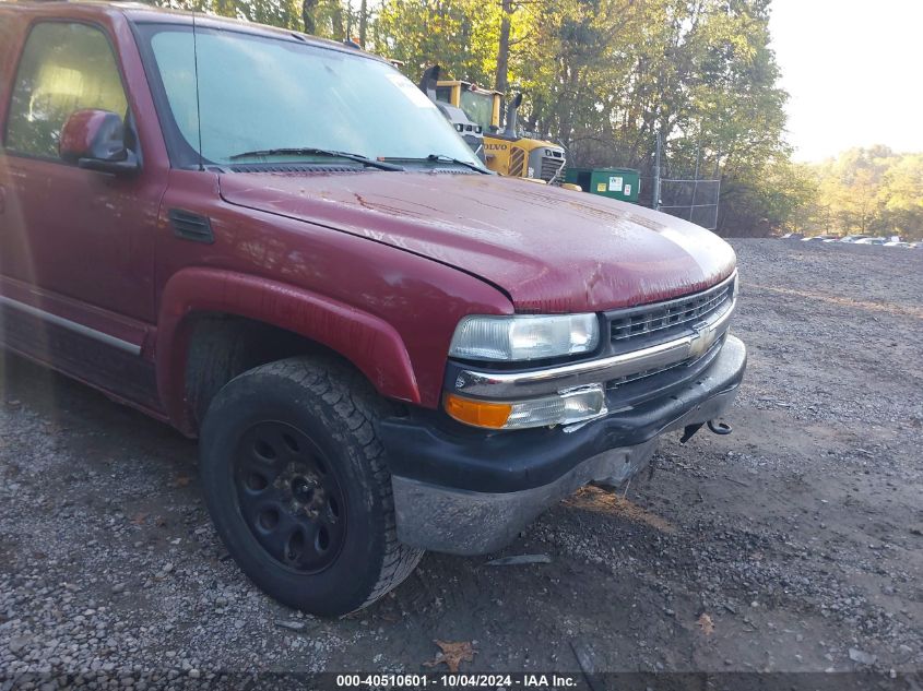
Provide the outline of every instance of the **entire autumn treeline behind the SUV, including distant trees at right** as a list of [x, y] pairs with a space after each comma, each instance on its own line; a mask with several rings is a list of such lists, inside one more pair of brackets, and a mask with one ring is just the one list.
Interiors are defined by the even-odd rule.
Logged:
[[382, 0], [371, 16], [362, 0], [156, 1], [289, 28], [307, 14], [335, 39], [367, 20], [366, 48], [414, 81], [439, 63], [508, 84], [525, 94], [524, 128], [563, 143], [575, 165], [639, 168], [642, 203], [661, 133], [665, 177], [721, 179], [726, 235], [919, 228], [920, 157], [791, 163], [770, 0]]

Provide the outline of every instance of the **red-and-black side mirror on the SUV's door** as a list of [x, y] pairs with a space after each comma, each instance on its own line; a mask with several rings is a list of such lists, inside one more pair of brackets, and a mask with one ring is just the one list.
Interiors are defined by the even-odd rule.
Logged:
[[78, 110], [61, 130], [61, 159], [87, 170], [113, 175], [137, 172], [138, 156], [125, 144], [125, 123], [108, 110]]

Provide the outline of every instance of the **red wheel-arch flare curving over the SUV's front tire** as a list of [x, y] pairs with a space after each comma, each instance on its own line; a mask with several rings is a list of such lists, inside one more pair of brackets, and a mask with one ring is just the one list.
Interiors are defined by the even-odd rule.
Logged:
[[157, 327], [157, 390], [185, 432], [194, 429], [186, 397], [193, 314], [218, 312], [297, 333], [348, 359], [382, 395], [418, 404], [419, 388], [400, 334], [386, 321], [303, 288], [225, 270], [192, 267], [164, 287]]

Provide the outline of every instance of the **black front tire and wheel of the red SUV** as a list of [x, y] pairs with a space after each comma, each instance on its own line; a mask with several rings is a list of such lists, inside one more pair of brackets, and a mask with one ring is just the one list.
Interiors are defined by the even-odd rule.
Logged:
[[320, 616], [397, 587], [423, 550], [398, 541], [376, 432], [389, 407], [332, 358], [291, 358], [227, 383], [202, 425], [205, 503], [228, 552], [261, 589]]

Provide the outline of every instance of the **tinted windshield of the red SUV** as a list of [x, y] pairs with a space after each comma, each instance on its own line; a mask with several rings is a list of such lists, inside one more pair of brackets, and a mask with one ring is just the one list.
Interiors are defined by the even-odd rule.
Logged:
[[[165, 129], [180, 140], [181, 165], [198, 160], [199, 109], [202, 156], [211, 163], [246, 152], [318, 148], [368, 158], [439, 154], [478, 165], [426, 95], [390, 64], [294, 38], [203, 27], [193, 52], [189, 26], [140, 28], [175, 123]], [[287, 152], [272, 162], [316, 157]]]

